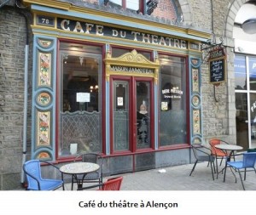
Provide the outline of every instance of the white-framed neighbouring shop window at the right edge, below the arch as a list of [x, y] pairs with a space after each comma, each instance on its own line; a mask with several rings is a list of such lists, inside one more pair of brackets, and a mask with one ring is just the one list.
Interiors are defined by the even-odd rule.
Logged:
[[244, 150], [256, 145], [256, 58], [236, 54], [236, 142]]

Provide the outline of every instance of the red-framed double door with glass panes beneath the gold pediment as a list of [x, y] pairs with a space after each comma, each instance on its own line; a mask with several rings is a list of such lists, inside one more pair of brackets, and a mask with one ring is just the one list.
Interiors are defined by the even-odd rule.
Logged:
[[153, 78], [111, 76], [111, 153], [153, 149]]

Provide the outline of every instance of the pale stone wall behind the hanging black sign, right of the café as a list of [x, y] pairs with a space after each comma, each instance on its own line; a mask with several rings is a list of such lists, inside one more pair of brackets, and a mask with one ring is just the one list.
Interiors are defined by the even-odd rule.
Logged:
[[[227, 55], [226, 82], [214, 87], [209, 83], [209, 68], [206, 49], [203, 54], [204, 63], [201, 71], [201, 93], [203, 107], [204, 141], [220, 138], [236, 143], [236, 109], [234, 88], [234, 43], [232, 37], [225, 37], [226, 21], [229, 19], [230, 0], [191, 0], [190, 8], [194, 25], [206, 28], [214, 34], [212, 42], [219, 43], [222, 37]], [[235, 1], [236, 2], [236, 1]], [[213, 27], [213, 28], [212, 28]], [[214, 93], [215, 88], [215, 93]]]

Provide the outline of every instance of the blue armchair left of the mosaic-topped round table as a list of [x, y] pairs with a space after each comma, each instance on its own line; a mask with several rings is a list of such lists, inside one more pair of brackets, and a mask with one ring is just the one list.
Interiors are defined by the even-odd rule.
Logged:
[[[55, 167], [48, 161], [31, 160], [23, 164], [23, 170], [26, 174], [27, 187], [26, 190], [56, 190], [62, 186], [64, 190], [63, 180], [42, 178], [41, 163], [47, 163], [50, 167]], [[55, 167], [59, 170], [58, 167]]]

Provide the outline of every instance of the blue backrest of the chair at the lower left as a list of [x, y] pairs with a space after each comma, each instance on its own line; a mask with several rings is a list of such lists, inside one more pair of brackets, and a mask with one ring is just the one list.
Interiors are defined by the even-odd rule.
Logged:
[[[26, 161], [23, 165], [23, 170], [26, 173], [26, 180], [28, 187], [38, 187], [42, 180], [41, 177], [41, 166], [39, 160]], [[38, 180], [38, 181], [37, 181]]]

